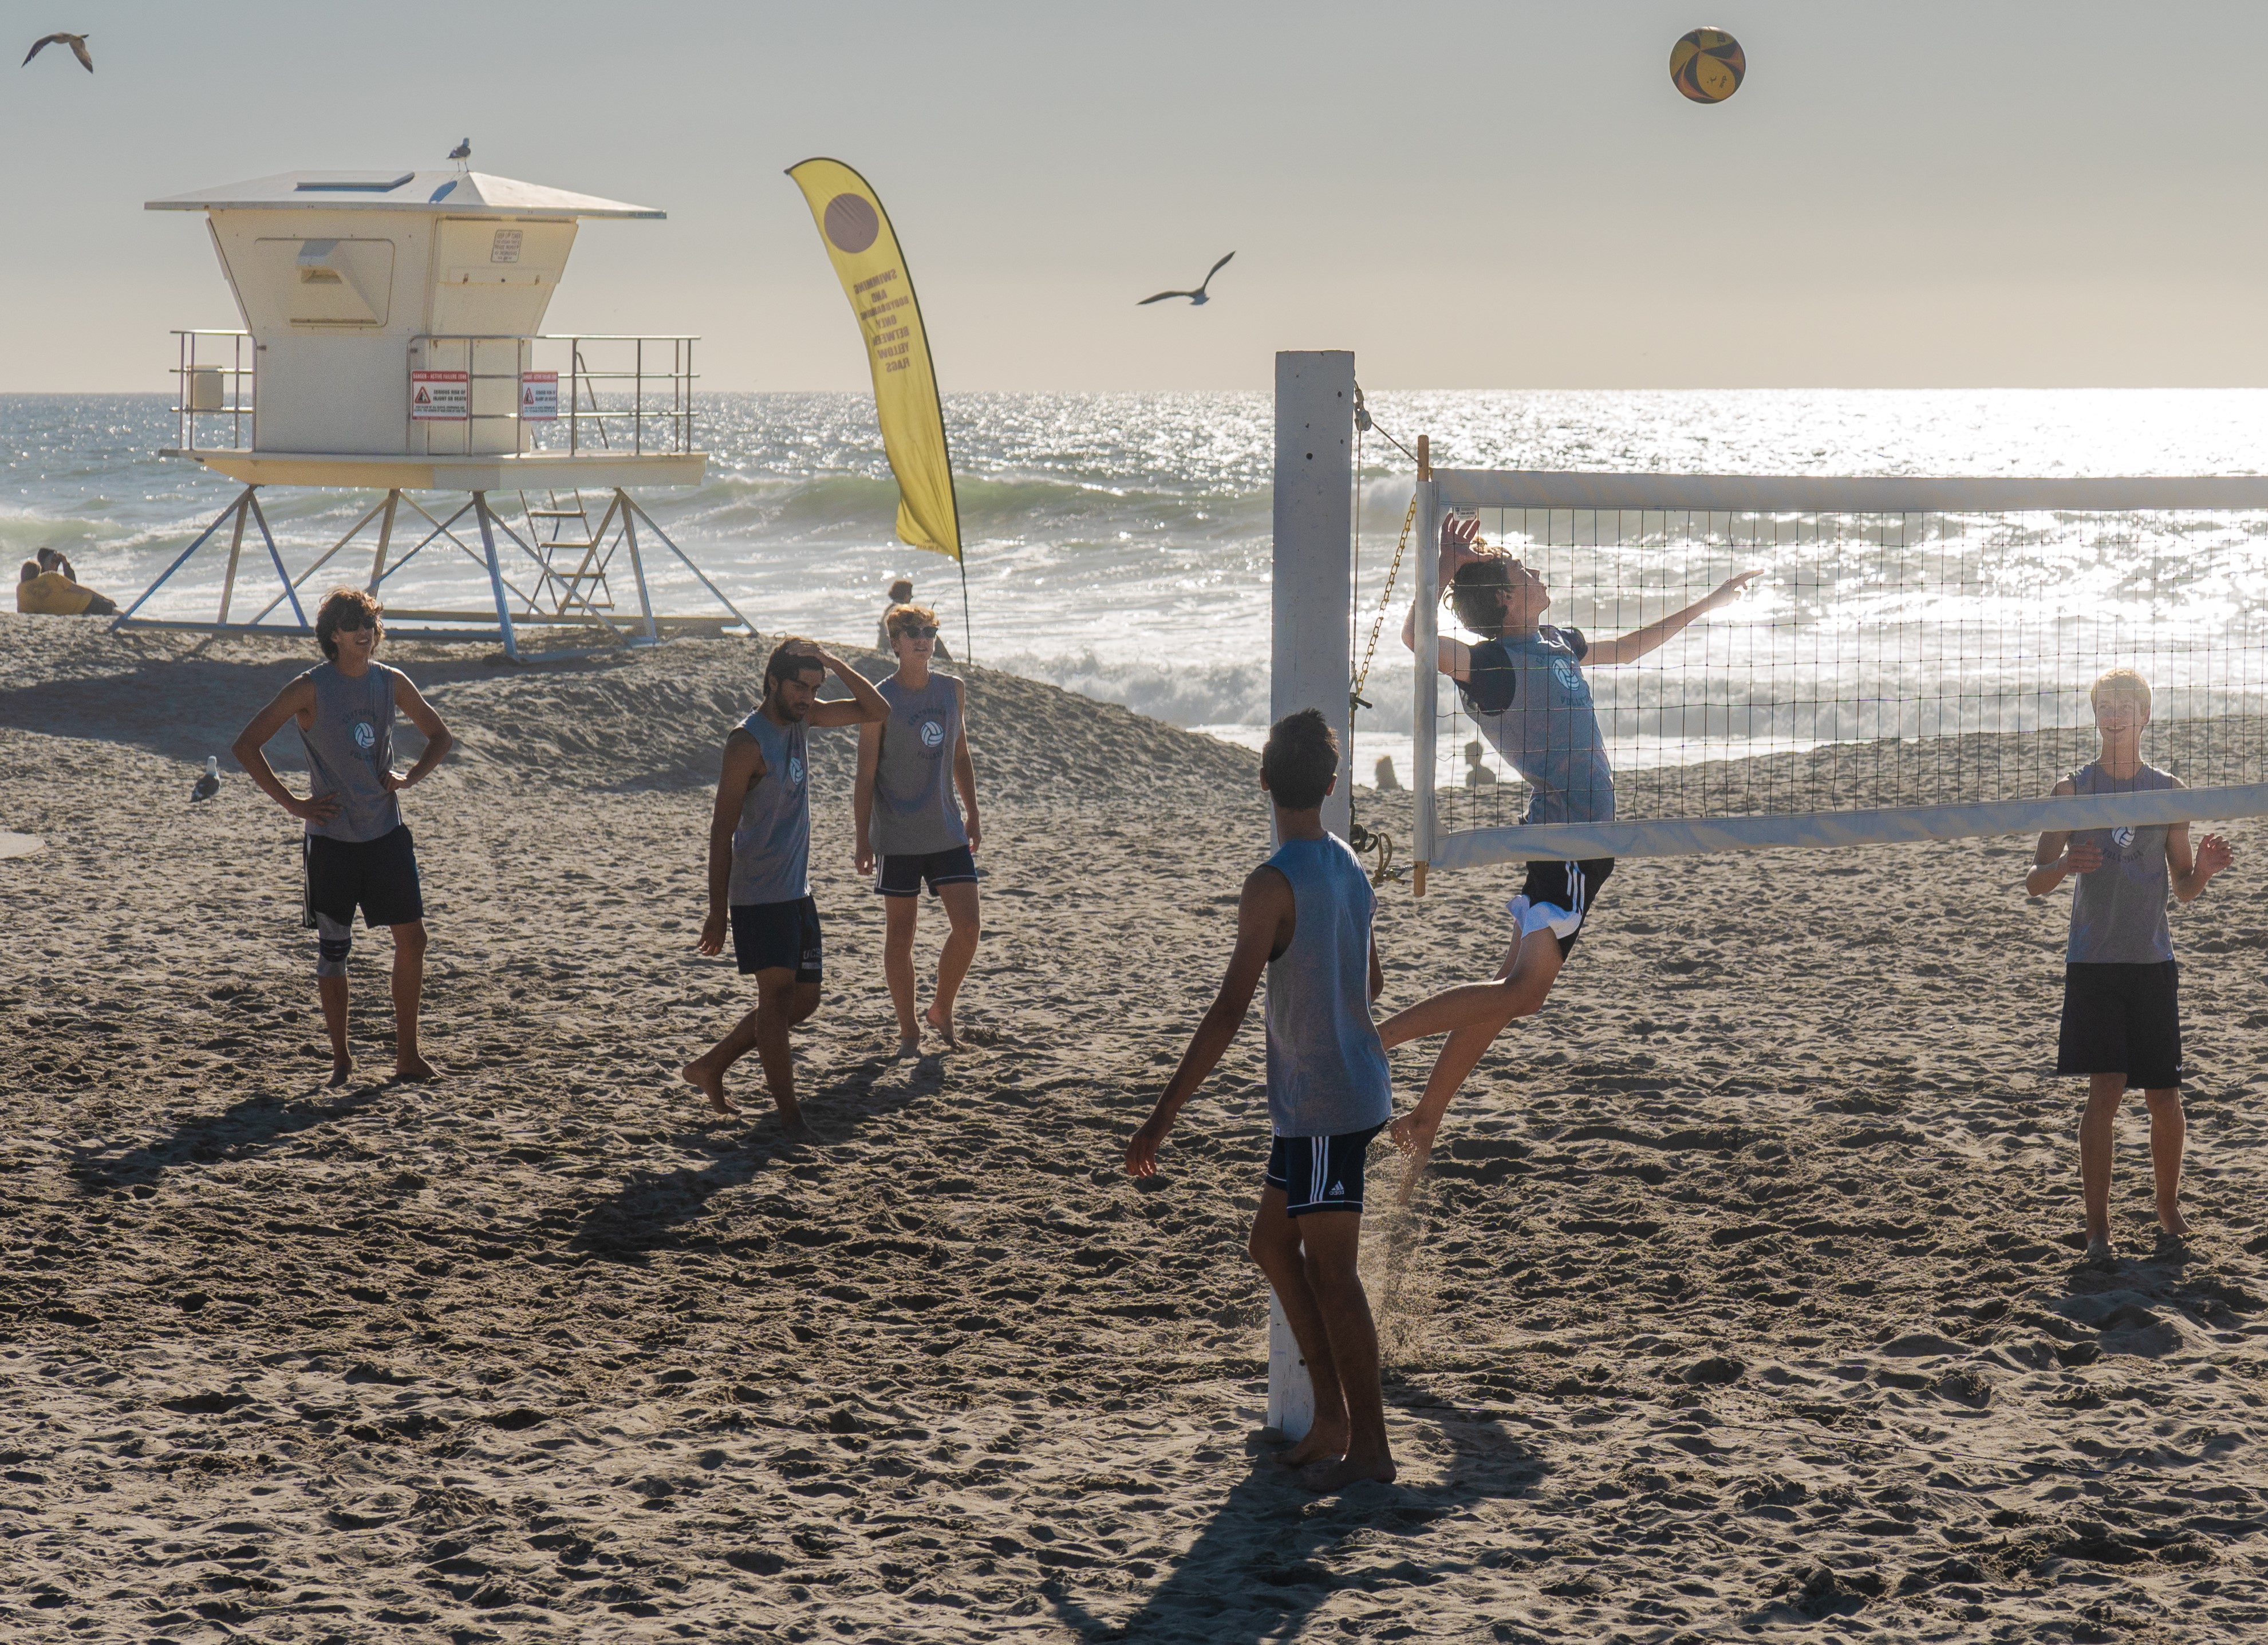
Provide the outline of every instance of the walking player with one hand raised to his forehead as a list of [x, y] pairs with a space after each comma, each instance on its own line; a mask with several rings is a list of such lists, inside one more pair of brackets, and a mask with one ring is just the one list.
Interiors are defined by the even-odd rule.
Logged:
[[[819, 701], [835, 674], [848, 699]], [[780, 1110], [780, 1130], [810, 1137], [796, 1105], [787, 1030], [819, 1010], [819, 903], [812, 901], [812, 794], [807, 726], [871, 726], [889, 703], [841, 658], [789, 635], [764, 663], [764, 701], [723, 740], [723, 776], [710, 815], [710, 912], [701, 953], [723, 953], [726, 919], [742, 976], [755, 978], [755, 1010], [733, 1023], [680, 1073], [719, 1114], [739, 1110], [723, 1094], [726, 1071], [751, 1051]]]

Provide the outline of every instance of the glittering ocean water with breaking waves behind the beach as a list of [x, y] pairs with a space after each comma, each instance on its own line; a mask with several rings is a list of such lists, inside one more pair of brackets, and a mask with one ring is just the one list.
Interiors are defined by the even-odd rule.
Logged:
[[[2248, 474], [2261, 472], [2268, 454], [2268, 390], [1522, 390], [1379, 393], [1370, 404], [1377, 422], [1404, 442], [1429, 433], [1436, 461], [1470, 467]], [[1270, 397], [955, 395], [946, 417], [968, 545], [966, 626], [953, 563], [891, 540], [896, 488], [864, 395], [710, 395], [699, 424], [710, 452], [708, 479], [644, 492], [642, 501], [767, 633], [871, 642], [885, 581], [909, 572], [921, 597], [939, 606], [959, 656], [1256, 742], [1268, 712]], [[170, 442], [172, 417], [159, 395], [0, 397], [0, 563], [52, 542], [70, 554], [82, 581], [120, 604], [132, 599], [234, 495], [227, 479], [195, 463], [159, 458], [156, 449]], [[1411, 465], [1383, 438], [1370, 436], [1363, 456], [1359, 644], [1368, 640], [1411, 490]], [[372, 499], [263, 492], [293, 572]], [[1814, 697], [1833, 692], [1851, 703], [1898, 694], [1880, 669], [1828, 683], [1819, 669], [1842, 653], [1821, 647], [1817, 633], [1810, 651], [1789, 640], [1803, 626], [1794, 617], [1805, 588], [1819, 599], [1817, 576], [1810, 585], [1801, 579], [1803, 565], [1817, 570], [1821, 560], [1817, 540], [1767, 542], [1751, 531], [1742, 542], [1737, 531], [1712, 531], [1706, 522], [1687, 531], [1669, 522], [1649, 531], [1637, 522], [1617, 524], [1617, 540], [1603, 545], [1597, 526], [1585, 542], [1583, 526], [1567, 515], [1483, 524], [1490, 538], [1545, 565], [1556, 588], [1567, 588], [1560, 619], [1608, 631], [1651, 619], [1665, 599], [1699, 592], [1715, 574], [1767, 554], [1765, 570], [1774, 576], [1744, 601], [1742, 619], [1681, 642], [1690, 647], [1687, 678], [1701, 678], [1706, 663], [1726, 678], [1746, 669], [1753, 683], [1758, 656], [1769, 656], [1771, 690], [1780, 697], [1803, 697], [1803, 681], [1814, 681]], [[2245, 642], [2259, 647], [2268, 613], [2263, 535], [2268, 524], [2227, 517], [2202, 538], [2161, 522], [2077, 535], [1964, 522], [1960, 576], [1869, 594], [1867, 579], [1853, 574], [1823, 622], [1830, 633], [1835, 622], [1869, 613], [1894, 619], [1907, 649], [1901, 667], [1975, 672], [1989, 658], [1964, 649], [1960, 635], [1975, 624], [1980, 601], [1998, 599], [2003, 608], [2030, 601], [2037, 613], [2048, 610], [2041, 590], [2059, 590], [2062, 604], [2048, 619], [2050, 629], [2062, 624], [2062, 644], [2075, 656], [2093, 658], [2100, 633], [2082, 635], [2082, 644], [2068, 633], [2073, 622], [2107, 622], [2121, 633], [2189, 624], [2200, 633], [2250, 633]], [[395, 554], [404, 547], [397, 535]], [[333, 560], [347, 572], [342, 581], [367, 572], [365, 554]], [[200, 554], [150, 615], [209, 615], [222, 558], [211, 549]], [[1585, 583], [1608, 563], [1613, 590]], [[277, 581], [254, 545], [245, 567], [238, 599], [252, 592], [256, 610]], [[667, 556], [649, 554], [649, 570], [665, 610], [708, 608], [694, 579]], [[476, 606], [485, 599], [485, 574], [435, 545], [388, 581], [386, 597], [404, 608]], [[1379, 751], [1408, 758], [1402, 610], [1397, 594], [1368, 690], [1377, 708], [1359, 722], [1365, 776]], [[1740, 631], [1776, 638], [1758, 640], [1765, 651], [1742, 649]], [[1996, 644], [2007, 651], [2016, 642], [2003, 626]], [[1805, 676], [1805, 667], [1814, 674]], [[1662, 676], [1626, 690], [1633, 717], [1613, 731], [1617, 758], [1669, 758], [1665, 749], [1692, 742], [1683, 722], [1665, 728], [1660, 715], [1647, 717], [1660, 692]], [[1857, 710], [1833, 726], [1826, 735], [1932, 728]], [[1801, 746], [1805, 728], [1724, 724], [1708, 735], [1737, 751], [1758, 737]]]

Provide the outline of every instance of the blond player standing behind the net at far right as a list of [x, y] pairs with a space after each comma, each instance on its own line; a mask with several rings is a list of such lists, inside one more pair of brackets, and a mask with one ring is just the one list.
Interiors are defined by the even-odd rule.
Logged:
[[[2150, 724], [2150, 681], [2112, 669], [2087, 692], [2096, 710], [2098, 753], [2055, 785], [2057, 794], [2139, 794], [2182, 787], [2170, 771], [2143, 765], [2141, 731]], [[2157, 1175], [2157, 1223], [2180, 1239], [2182, 1216], [2182, 1014], [2175, 998], [2173, 933], [2166, 889], [2193, 903], [2234, 853], [2204, 835], [2195, 858], [2189, 824], [2082, 828], [2043, 833], [2037, 864], [2023, 880], [2046, 896], [2066, 876], [2071, 942], [2064, 948], [2064, 1021], [2055, 1046], [2057, 1073], [2087, 1075], [2080, 1119], [2080, 1198], [2087, 1209], [2087, 1255], [2112, 1255], [2112, 1146], [2118, 1103], [2141, 1087], [2150, 1110], [2150, 1169]], [[2168, 874], [2170, 869], [2170, 874]]]

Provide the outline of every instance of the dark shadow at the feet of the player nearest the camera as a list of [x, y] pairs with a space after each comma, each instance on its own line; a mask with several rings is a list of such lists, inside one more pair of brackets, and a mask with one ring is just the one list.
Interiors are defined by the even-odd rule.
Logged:
[[[1386, 1595], [1472, 1570], [1467, 1559], [1427, 1561], [1420, 1541], [1427, 1527], [1479, 1502], [1524, 1495], [1542, 1477], [1542, 1463], [1492, 1418], [1445, 1414], [1433, 1395], [1408, 1384], [1388, 1386], [1386, 1398], [1440, 1425], [1454, 1450], [1447, 1479], [1436, 1486], [1363, 1484], [1336, 1498], [1313, 1498], [1277, 1466], [1275, 1441], [1254, 1434], [1245, 1443], [1250, 1473], [1132, 1616], [1105, 1620], [1077, 1600], [1070, 1579], [1050, 1577], [1041, 1593], [1057, 1620], [1086, 1640], [1259, 1645], [1297, 1638], [1313, 1611], [1338, 1591]], [[1374, 1554], [1374, 1563], [1327, 1563], [1336, 1547], [1363, 1532], [1372, 1534], [1363, 1552]], [[1383, 1538], [1406, 1547], [1386, 1547]], [[1393, 1552], [1402, 1557], [1388, 1557]]]

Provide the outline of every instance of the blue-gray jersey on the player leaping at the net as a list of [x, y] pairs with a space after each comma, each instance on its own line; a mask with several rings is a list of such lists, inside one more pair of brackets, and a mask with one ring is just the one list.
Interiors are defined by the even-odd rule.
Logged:
[[1579, 629], [1538, 629], [1472, 647], [1465, 712], [1529, 781], [1522, 821], [1615, 821], [1615, 771], [1583, 678]]

